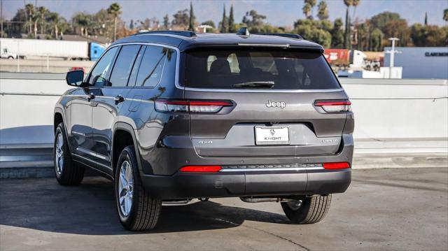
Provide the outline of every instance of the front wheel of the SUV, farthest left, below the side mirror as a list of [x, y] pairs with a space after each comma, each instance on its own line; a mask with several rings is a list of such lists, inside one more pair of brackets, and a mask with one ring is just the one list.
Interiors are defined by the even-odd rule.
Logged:
[[57, 125], [53, 146], [53, 164], [60, 185], [79, 185], [84, 178], [84, 168], [73, 163], [64, 132], [64, 123]]

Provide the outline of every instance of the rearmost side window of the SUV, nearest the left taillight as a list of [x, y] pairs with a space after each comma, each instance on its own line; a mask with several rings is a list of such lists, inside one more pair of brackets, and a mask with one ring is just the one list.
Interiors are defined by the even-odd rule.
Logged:
[[146, 47], [137, 74], [136, 86], [155, 87], [158, 85], [168, 52], [169, 49], [159, 46]]

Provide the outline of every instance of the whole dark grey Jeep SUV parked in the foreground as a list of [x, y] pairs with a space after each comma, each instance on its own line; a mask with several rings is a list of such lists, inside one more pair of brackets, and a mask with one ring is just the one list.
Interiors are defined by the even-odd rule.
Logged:
[[54, 110], [55, 175], [115, 183], [126, 229], [162, 203], [276, 201], [319, 222], [351, 182], [353, 113], [321, 45], [293, 34], [153, 31], [113, 43]]

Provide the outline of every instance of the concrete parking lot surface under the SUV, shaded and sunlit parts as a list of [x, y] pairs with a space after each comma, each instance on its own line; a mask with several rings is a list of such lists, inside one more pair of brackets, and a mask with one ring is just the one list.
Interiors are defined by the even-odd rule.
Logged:
[[448, 168], [353, 170], [318, 224], [279, 203], [211, 199], [164, 206], [153, 231], [118, 222], [113, 183], [0, 180], [0, 250], [447, 250]]

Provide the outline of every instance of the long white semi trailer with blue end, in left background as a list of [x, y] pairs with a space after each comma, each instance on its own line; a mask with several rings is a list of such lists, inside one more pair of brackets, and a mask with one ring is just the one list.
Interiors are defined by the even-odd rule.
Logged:
[[104, 51], [104, 46], [87, 41], [63, 41], [27, 38], [0, 38], [1, 50], [15, 53], [19, 57], [62, 57], [64, 59], [95, 60]]

